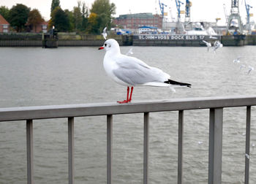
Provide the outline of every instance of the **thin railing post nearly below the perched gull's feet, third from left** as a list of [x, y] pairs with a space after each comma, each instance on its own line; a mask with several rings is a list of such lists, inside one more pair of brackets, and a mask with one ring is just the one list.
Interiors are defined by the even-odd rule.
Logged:
[[107, 184], [112, 183], [113, 115], [107, 115]]

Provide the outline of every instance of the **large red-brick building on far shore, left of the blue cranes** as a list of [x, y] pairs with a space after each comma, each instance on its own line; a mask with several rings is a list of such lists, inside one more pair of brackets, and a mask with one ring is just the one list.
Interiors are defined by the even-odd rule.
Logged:
[[113, 23], [123, 28], [138, 29], [141, 26], [151, 26], [162, 28], [162, 16], [152, 13], [136, 13], [119, 15], [113, 20]]

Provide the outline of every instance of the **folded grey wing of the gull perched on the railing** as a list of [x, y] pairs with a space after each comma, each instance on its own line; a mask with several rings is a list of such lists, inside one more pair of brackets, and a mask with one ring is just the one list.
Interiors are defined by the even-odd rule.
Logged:
[[113, 73], [118, 79], [130, 85], [141, 85], [150, 82], [164, 82], [168, 76], [162, 70], [148, 66], [137, 58], [124, 55], [119, 59], [118, 69]]

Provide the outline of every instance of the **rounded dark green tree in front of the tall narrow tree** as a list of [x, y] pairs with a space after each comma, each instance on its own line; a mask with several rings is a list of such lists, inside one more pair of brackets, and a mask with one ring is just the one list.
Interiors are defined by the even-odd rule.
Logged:
[[53, 9], [50, 23], [52, 26], [55, 26], [57, 31], [69, 31], [69, 17], [61, 7]]

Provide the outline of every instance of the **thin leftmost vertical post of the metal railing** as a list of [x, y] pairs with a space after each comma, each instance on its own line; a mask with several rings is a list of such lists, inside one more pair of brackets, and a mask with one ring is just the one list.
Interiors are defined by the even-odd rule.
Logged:
[[26, 120], [27, 183], [34, 183], [33, 120]]

